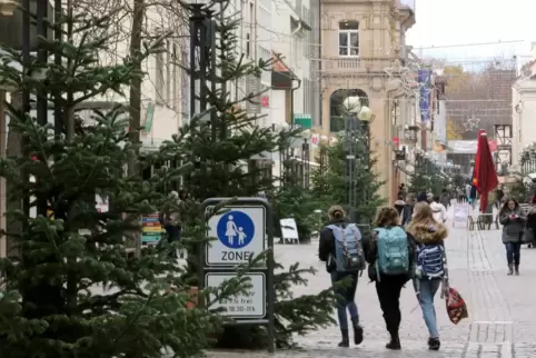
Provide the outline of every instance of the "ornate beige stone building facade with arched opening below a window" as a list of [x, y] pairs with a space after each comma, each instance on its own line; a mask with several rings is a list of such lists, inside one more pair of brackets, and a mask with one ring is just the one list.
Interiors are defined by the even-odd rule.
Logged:
[[386, 182], [380, 195], [393, 199], [399, 180], [391, 143], [400, 126], [415, 120], [408, 118], [415, 101], [398, 80], [406, 71], [405, 34], [415, 24], [415, 1], [325, 0], [320, 19], [321, 130], [344, 129], [339, 108], [346, 97], [358, 96], [375, 115], [370, 150], [378, 156], [374, 169]]

